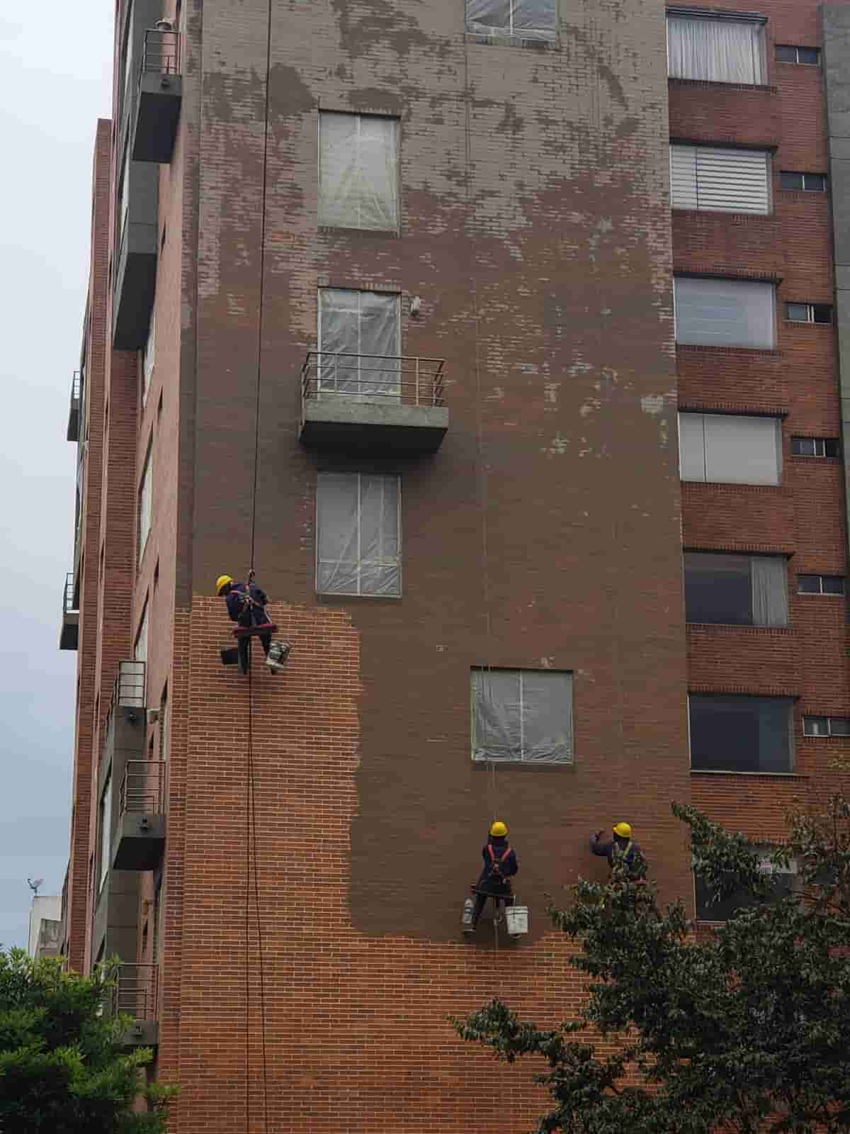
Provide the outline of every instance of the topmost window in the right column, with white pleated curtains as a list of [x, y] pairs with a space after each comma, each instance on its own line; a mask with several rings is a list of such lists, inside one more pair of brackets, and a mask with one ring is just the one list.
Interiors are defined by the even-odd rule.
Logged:
[[668, 74], [709, 83], [765, 82], [764, 26], [760, 22], [668, 15]]

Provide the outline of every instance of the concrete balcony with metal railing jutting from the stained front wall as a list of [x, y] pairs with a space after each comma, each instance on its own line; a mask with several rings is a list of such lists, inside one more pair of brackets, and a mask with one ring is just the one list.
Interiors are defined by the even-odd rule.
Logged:
[[442, 358], [311, 350], [301, 367], [304, 445], [436, 452], [449, 429]]

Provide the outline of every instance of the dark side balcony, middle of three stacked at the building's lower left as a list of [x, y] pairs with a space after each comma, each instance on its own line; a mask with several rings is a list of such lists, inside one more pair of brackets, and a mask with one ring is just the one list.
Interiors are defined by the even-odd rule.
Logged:
[[153, 870], [165, 846], [165, 761], [128, 760], [118, 798], [113, 870]]

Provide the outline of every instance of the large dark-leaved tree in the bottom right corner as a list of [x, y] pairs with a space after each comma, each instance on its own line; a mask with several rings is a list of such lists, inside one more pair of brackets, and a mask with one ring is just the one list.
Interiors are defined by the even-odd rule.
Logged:
[[850, 1131], [848, 799], [789, 818], [771, 853], [780, 870], [797, 863], [784, 895], [743, 835], [673, 812], [713, 900], [749, 904], [696, 937], [652, 882], [579, 880], [567, 908], [549, 909], [588, 978], [578, 1018], [545, 1031], [494, 1000], [456, 1029], [509, 1063], [542, 1057], [552, 1109], [538, 1132]]

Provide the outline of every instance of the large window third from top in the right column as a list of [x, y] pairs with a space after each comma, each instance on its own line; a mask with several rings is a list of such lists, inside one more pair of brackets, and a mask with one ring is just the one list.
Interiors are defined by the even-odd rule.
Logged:
[[675, 341], [772, 349], [774, 287], [750, 280], [673, 278]]

